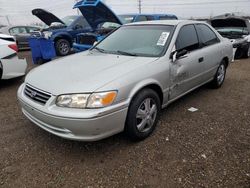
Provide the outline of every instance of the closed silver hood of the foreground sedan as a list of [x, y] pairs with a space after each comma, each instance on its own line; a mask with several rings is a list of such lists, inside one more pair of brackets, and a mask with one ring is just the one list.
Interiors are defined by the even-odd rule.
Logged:
[[35, 68], [25, 82], [53, 95], [91, 93], [156, 59], [87, 51]]

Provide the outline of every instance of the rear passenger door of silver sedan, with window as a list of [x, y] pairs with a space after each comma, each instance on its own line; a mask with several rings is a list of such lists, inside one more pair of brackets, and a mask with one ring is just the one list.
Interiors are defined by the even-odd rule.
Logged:
[[204, 79], [212, 79], [217, 71], [217, 68], [222, 60], [220, 49], [220, 40], [215, 32], [205, 24], [195, 25], [198, 38], [200, 41], [201, 53], [204, 61]]

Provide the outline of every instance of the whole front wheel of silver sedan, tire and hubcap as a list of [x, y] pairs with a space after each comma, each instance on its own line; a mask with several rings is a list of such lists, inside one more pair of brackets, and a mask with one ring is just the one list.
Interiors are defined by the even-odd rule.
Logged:
[[143, 89], [131, 101], [127, 114], [125, 132], [133, 141], [141, 141], [154, 131], [161, 110], [158, 94]]

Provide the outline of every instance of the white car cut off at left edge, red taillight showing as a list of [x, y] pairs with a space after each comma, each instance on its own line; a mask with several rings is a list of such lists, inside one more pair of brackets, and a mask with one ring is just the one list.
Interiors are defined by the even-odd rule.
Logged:
[[0, 80], [25, 75], [27, 62], [17, 56], [17, 45], [12, 36], [0, 34]]

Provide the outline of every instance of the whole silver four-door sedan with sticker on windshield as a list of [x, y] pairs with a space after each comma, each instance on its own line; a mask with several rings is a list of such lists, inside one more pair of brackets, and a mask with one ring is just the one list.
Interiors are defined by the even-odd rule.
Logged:
[[28, 119], [66, 139], [95, 141], [126, 131], [142, 140], [162, 108], [206, 83], [221, 87], [232, 51], [203, 22], [123, 25], [91, 50], [30, 72], [18, 99]]

